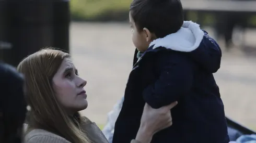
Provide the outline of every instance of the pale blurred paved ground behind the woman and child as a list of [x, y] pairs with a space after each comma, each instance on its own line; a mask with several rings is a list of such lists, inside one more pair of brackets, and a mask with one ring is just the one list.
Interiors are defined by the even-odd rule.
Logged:
[[[246, 35], [253, 36], [256, 35]], [[253, 42], [251, 39], [248, 38]], [[97, 124], [106, 123], [107, 113], [123, 96], [133, 51], [127, 24], [71, 24], [71, 54], [80, 76], [88, 81], [85, 89], [89, 106], [82, 113]], [[255, 71], [256, 55], [247, 56], [234, 50], [224, 52], [222, 67], [215, 74], [226, 114], [252, 128], [256, 128]]]

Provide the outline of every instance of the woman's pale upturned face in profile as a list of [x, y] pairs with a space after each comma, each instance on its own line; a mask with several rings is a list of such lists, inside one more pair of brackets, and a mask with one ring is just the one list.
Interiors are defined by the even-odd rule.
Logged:
[[87, 82], [78, 76], [71, 59], [65, 58], [62, 61], [52, 81], [57, 100], [68, 113], [73, 114], [87, 108], [87, 95], [84, 90]]

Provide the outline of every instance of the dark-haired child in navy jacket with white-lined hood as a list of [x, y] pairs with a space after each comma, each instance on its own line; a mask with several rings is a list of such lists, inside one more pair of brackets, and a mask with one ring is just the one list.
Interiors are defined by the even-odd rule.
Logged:
[[229, 142], [213, 76], [222, 56], [218, 44], [198, 24], [183, 21], [179, 0], [133, 0], [130, 23], [136, 52], [113, 143], [135, 138], [145, 102], [160, 108], [173, 101], [173, 125], [153, 143]]

